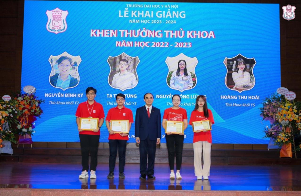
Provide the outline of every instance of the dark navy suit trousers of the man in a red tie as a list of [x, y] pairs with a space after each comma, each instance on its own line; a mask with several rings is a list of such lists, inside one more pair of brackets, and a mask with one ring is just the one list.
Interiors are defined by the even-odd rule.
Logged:
[[[156, 154], [157, 140], [150, 140], [149, 137], [146, 140], [140, 140], [139, 152], [140, 152], [140, 174], [154, 175], [155, 166], [155, 154]], [[148, 164], [147, 164], [148, 155]], [[146, 168], [147, 164], [147, 168]]]

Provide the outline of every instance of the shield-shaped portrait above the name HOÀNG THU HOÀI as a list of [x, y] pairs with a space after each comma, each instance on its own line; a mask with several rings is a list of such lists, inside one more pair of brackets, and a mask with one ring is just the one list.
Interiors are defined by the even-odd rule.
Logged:
[[255, 77], [253, 68], [256, 64], [254, 58], [249, 59], [239, 54], [231, 59], [226, 57], [224, 64], [227, 68], [225, 77], [225, 85], [227, 88], [242, 92], [254, 87]]

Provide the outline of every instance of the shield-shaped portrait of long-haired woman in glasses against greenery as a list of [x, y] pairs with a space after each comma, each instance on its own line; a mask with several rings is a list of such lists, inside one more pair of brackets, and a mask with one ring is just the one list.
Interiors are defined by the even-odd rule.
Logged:
[[169, 88], [181, 92], [194, 88], [197, 84], [197, 77], [194, 72], [198, 63], [196, 57], [190, 58], [181, 53], [176, 57], [167, 57], [165, 62], [169, 68], [166, 78]]

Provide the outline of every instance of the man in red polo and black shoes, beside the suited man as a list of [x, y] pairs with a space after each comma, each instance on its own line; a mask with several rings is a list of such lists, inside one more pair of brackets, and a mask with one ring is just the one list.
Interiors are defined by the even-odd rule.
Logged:
[[[129, 120], [129, 130], [134, 122], [133, 113], [129, 108], [124, 106], [126, 96], [122, 93], [116, 95], [117, 106], [111, 108], [108, 111], [106, 118], [106, 126], [109, 131], [109, 146], [110, 146], [110, 158], [109, 168], [110, 172], [107, 178], [114, 178], [114, 168], [116, 163], [116, 155], [118, 148], [119, 156], [119, 178], [125, 178], [124, 165], [126, 164], [126, 142], [129, 140], [128, 133], [116, 133], [110, 128], [111, 120]], [[118, 146], [118, 147], [117, 147]]]

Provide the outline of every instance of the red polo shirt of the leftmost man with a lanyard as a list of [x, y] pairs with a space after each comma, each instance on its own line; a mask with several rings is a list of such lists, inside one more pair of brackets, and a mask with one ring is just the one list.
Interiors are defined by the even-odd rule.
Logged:
[[[75, 116], [79, 118], [88, 118], [91, 116], [93, 118], [99, 118], [99, 120], [101, 120], [104, 118], [104, 108], [100, 103], [97, 103], [95, 100], [92, 105], [90, 105], [88, 101], [85, 101], [78, 105]], [[98, 132], [81, 131], [79, 132], [79, 134], [100, 135], [100, 130]]]

